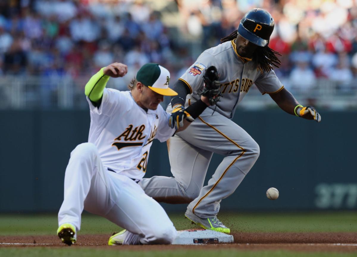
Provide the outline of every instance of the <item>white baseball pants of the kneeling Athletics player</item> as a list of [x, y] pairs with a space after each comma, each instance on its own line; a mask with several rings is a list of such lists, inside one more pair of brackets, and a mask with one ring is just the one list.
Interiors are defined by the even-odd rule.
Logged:
[[80, 230], [83, 209], [138, 234], [142, 244], [170, 244], [176, 237], [174, 224], [160, 204], [132, 179], [107, 170], [92, 143], [79, 144], [71, 152], [59, 226], [71, 223]]

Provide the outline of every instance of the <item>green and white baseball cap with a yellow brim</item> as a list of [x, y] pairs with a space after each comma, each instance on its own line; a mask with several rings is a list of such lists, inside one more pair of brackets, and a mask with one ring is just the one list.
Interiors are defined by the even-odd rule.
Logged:
[[157, 63], [142, 65], [136, 74], [136, 80], [160, 95], [177, 95], [169, 88], [170, 72]]

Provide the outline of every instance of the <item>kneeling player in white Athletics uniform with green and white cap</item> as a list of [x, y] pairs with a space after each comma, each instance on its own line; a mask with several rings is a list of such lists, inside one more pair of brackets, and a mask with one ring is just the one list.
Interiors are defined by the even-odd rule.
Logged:
[[[86, 84], [91, 117], [89, 138], [71, 152], [64, 201], [58, 213], [57, 234], [68, 245], [76, 242], [83, 209], [125, 228], [109, 239], [110, 245], [169, 244], [176, 237], [176, 229], [164, 209], [137, 183], [145, 175], [152, 141], [166, 141], [175, 131], [185, 129], [190, 124], [187, 120], [193, 118], [181, 112], [180, 122], [175, 123], [162, 109], [163, 95], [177, 95], [169, 88], [167, 69], [145, 64], [132, 80], [130, 91], [105, 88], [110, 77], [126, 73], [126, 65], [113, 63]], [[202, 112], [207, 104], [200, 104], [196, 109]], [[173, 123], [172, 127], [168, 122]]]

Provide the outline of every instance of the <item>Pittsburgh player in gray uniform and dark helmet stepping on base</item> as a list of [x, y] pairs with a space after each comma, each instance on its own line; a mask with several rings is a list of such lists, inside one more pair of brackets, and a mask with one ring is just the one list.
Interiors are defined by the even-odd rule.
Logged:
[[[186, 130], [168, 140], [174, 177], [155, 176], [140, 182], [145, 193], [157, 201], [189, 203], [185, 216], [203, 228], [230, 233], [217, 219], [220, 202], [236, 190], [259, 156], [259, 145], [231, 120], [253, 84], [262, 94], [269, 94], [285, 112], [321, 120], [315, 108], [297, 102], [273, 71], [273, 66], [280, 65], [278, 53], [268, 47], [273, 28], [274, 20], [266, 10], [248, 11], [236, 31], [221, 39], [220, 45], [205, 50], [178, 79], [173, 88], [178, 95], [172, 97], [167, 109], [175, 110], [172, 117], [205, 93], [204, 75], [208, 70], [217, 69], [213, 84], [219, 86], [220, 94], [210, 95], [213, 105]], [[225, 158], [203, 187], [213, 153]]]

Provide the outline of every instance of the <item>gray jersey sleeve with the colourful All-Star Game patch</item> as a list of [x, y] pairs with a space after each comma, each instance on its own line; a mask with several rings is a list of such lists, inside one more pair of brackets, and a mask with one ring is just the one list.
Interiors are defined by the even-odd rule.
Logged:
[[220, 73], [218, 62], [215, 56], [208, 54], [206, 51], [198, 56], [194, 64], [186, 70], [186, 72], [179, 78], [190, 89], [190, 94], [200, 89], [203, 86], [203, 74], [205, 69], [209, 66], [216, 66], [218, 73]]

